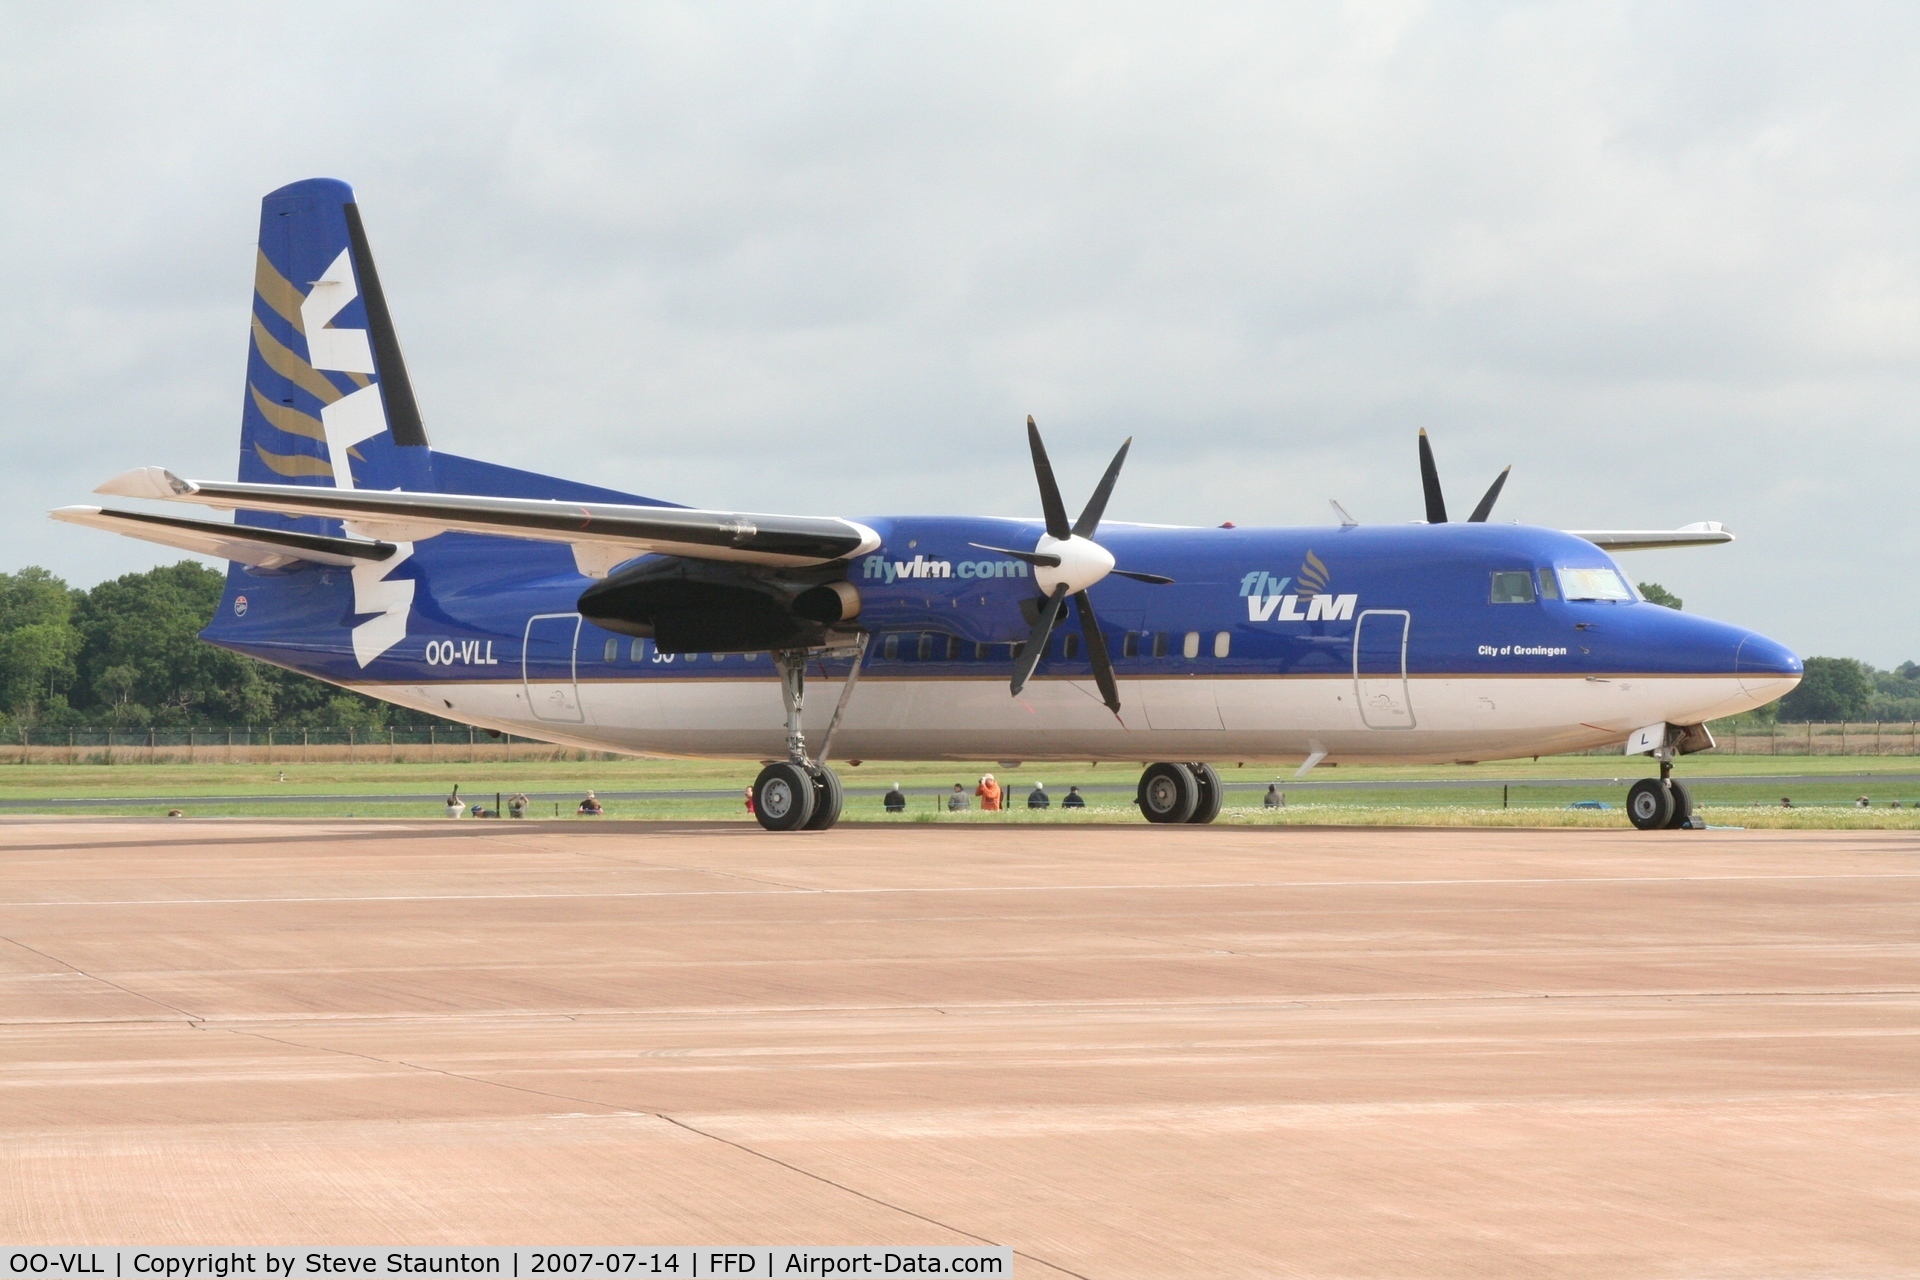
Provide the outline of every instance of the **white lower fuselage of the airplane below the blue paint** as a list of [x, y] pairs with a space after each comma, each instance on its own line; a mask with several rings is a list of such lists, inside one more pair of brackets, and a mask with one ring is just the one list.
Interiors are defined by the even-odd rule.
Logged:
[[[735, 658], [737, 660], [737, 658]], [[781, 758], [780, 683], [755, 676], [578, 683], [353, 685], [432, 716], [518, 737], [639, 756]], [[870, 760], [1500, 760], [1620, 743], [1638, 727], [1701, 723], [1761, 706], [1776, 676], [1350, 676], [1121, 679], [1121, 714], [1092, 681], [866, 674], [835, 729], [833, 758]], [[804, 727], [818, 748], [841, 679], [808, 679]]]

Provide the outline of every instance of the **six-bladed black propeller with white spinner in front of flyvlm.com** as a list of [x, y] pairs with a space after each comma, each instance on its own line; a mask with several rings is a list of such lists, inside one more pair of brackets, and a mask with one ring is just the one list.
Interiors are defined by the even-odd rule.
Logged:
[[1033, 476], [1041, 484], [1041, 512], [1046, 516], [1046, 532], [1033, 545], [1033, 551], [970, 543], [981, 551], [996, 551], [1016, 560], [1025, 560], [1035, 570], [1033, 581], [1046, 593], [1046, 601], [1033, 620], [1033, 631], [1027, 633], [1027, 643], [1021, 647], [1020, 658], [1014, 660], [1012, 689], [1018, 695], [1027, 687], [1033, 668], [1039, 666], [1041, 656], [1046, 652], [1046, 641], [1060, 622], [1068, 597], [1071, 597], [1073, 608], [1079, 612], [1081, 633], [1087, 637], [1087, 660], [1092, 664], [1092, 679], [1100, 685], [1100, 700], [1117, 716], [1119, 685], [1114, 681], [1114, 660], [1106, 651], [1106, 635], [1100, 633], [1100, 622], [1094, 618], [1087, 589], [1108, 574], [1154, 585], [1173, 581], [1160, 574], [1116, 568], [1112, 553], [1092, 541], [1092, 535], [1100, 528], [1100, 516], [1106, 514], [1106, 501], [1114, 495], [1114, 482], [1119, 480], [1119, 466], [1127, 461], [1127, 449], [1133, 447], [1133, 438], [1127, 438], [1119, 453], [1114, 455], [1114, 461], [1108, 462], [1106, 474], [1100, 476], [1100, 484], [1094, 486], [1092, 497], [1087, 499], [1087, 507], [1081, 509], [1079, 520], [1073, 524], [1068, 524], [1068, 509], [1060, 501], [1060, 482], [1054, 480], [1054, 464], [1046, 459], [1046, 445], [1041, 443], [1041, 428], [1033, 424], [1033, 415], [1027, 415], [1027, 447], [1033, 449]]

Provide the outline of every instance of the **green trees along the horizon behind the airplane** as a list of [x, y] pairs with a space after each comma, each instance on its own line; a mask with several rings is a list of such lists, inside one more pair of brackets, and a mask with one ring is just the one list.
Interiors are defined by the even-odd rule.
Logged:
[[[88, 589], [69, 587], [38, 566], [0, 574], [0, 727], [390, 723], [397, 708], [388, 702], [204, 643], [200, 628], [219, 608], [225, 581], [194, 560]], [[1657, 581], [1640, 583], [1640, 595], [1682, 606]], [[1920, 664], [1882, 672], [1859, 658], [1807, 658], [1799, 687], [1753, 718], [1920, 720]], [[415, 720], [407, 712], [407, 722]]]

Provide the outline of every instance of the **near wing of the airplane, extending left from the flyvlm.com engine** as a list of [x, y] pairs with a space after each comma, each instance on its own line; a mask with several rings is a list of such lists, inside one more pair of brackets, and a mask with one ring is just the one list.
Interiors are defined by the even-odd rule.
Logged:
[[180, 480], [161, 466], [125, 472], [94, 491], [215, 509], [324, 516], [344, 520], [348, 532], [359, 537], [396, 543], [420, 541], [449, 530], [570, 543], [574, 562], [589, 578], [605, 578], [614, 564], [649, 553], [785, 568], [826, 564], [879, 547], [879, 533], [837, 516], [768, 516], [626, 503], [230, 484]]

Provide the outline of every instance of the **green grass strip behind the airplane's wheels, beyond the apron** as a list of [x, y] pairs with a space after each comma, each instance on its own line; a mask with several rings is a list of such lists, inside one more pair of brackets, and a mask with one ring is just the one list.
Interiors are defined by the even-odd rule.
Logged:
[[[1634, 777], [1653, 773], [1645, 758], [1549, 756], [1478, 766], [1323, 766], [1306, 781], [1298, 762], [1225, 762], [1223, 821], [1363, 825], [1567, 825], [1624, 827], [1622, 804]], [[1135, 766], [1044, 764], [887, 764], [839, 762], [849, 791], [847, 818], [885, 821], [1140, 821], [1133, 808]], [[745, 821], [741, 791], [751, 760], [541, 760], [492, 764], [17, 764], [0, 766], [0, 814], [129, 814], [180, 808], [194, 818], [438, 818], [440, 796], [455, 783], [468, 802], [493, 804], [495, 793], [534, 796], [536, 818], [572, 816], [588, 789], [612, 818]], [[954, 783], [972, 793], [981, 773], [1008, 785], [1016, 808], [1002, 814], [947, 814]], [[1920, 827], [1916, 756], [1715, 756], [1684, 760], [1678, 775], [1716, 825], [1741, 827]], [[1058, 806], [1079, 785], [1089, 808], [1033, 814], [1023, 798], [1046, 781]], [[1791, 781], [1786, 781], [1791, 779]], [[899, 781], [908, 812], [889, 818], [879, 796]], [[1286, 808], [1265, 810], [1265, 785], [1279, 781]], [[1866, 794], [1870, 808], [1857, 808]], [[1780, 798], [1791, 796], [1793, 808]], [[1601, 800], [1611, 810], [1569, 810]], [[1899, 808], [1891, 808], [1899, 802]]]

